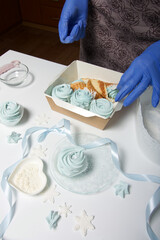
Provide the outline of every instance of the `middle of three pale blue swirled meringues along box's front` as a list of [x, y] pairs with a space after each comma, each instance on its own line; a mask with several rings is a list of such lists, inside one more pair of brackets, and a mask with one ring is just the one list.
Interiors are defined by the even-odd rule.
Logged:
[[92, 98], [89, 91], [78, 89], [71, 96], [71, 104], [89, 110]]

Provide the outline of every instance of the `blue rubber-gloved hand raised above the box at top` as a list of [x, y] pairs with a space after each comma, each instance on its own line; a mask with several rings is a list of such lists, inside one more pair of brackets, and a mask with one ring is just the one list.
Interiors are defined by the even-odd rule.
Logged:
[[62, 43], [72, 43], [85, 36], [88, 0], [66, 0], [58, 24]]

